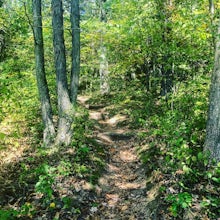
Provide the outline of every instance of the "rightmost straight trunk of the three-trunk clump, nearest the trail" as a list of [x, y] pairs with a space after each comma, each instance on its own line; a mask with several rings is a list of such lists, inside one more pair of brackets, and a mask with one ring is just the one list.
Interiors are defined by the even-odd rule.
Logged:
[[80, 13], [79, 0], [71, 0], [71, 27], [72, 27], [72, 71], [70, 93], [72, 103], [76, 103], [79, 74], [80, 74]]

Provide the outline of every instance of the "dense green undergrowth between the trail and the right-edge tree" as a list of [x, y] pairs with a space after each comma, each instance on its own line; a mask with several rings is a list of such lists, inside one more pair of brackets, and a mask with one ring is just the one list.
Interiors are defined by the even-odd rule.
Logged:
[[220, 164], [203, 153], [209, 77], [182, 82], [168, 97], [136, 87], [94, 103], [110, 102], [110, 112], [126, 114], [137, 129], [137, 149], [147, 170], [147, 188], [159, 184], [166, 219], [217, 219], [220, 216]]

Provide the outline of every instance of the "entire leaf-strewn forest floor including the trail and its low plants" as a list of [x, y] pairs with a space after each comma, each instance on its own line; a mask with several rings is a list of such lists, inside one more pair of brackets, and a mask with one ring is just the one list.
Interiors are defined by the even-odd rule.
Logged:
[[219, 169], [183, 142], [197, 121], [186, 130], [181, 115], [174, 123], [158, 99], [134, 93], [80, 95], [69, 146], [42, 146], [38, 108], [6, 114], [0, 220], [219, 219]]

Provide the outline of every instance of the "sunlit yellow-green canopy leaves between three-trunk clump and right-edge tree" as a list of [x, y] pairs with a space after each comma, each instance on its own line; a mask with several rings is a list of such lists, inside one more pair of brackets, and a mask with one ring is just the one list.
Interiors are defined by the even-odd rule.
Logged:
[[[142, 84], [148, 75], [150, 90], [159, 93], [164, 70], [172, 72], [175, 83], [209, 70], [213, 52], [205, 1], [173, 2], [172, 6], [147, 0], [106, 4], [110, 11], [104, 29], [97, 16], [81, 24], [81, 79], [91, 91], [91, 87], [98, 89], [100, 39], [108, 48], [111, 78], [116, 79], [113, 87], [121, 87], [136, 73]], [[120, 78], [122, 85], [117, 83]]]

